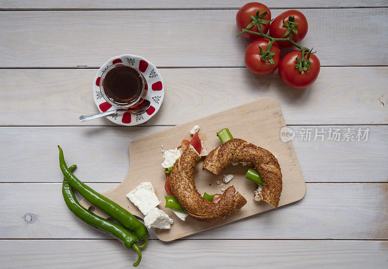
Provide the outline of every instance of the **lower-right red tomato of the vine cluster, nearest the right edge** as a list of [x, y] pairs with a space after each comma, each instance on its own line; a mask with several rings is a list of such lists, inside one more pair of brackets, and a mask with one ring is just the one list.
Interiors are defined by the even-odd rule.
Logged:
[[299, 70], [295, 68], [295, 59], [298, 54], [299, 59], [301, 59], [302, 51], [300, 50], [292, 50], [283, 56], [279, 64], [279, 76], [292, 88], [305, 89], [317, 79], [319, 71], [321, 70], [321, 63], [315, 54], [311, 54], [310, 69], [307, 72], [299, 72]]

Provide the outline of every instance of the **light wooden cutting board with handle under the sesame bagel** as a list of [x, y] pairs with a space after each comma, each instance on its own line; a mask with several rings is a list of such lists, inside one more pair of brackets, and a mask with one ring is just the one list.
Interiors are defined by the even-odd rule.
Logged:
[[[216, 184], [216, 181], [223, 183], [223, 175], [216, 176], [207, 170], [202, 170], [202, 163], [197, 164], [196, 173], [194, 174], [195, 185], [199, 193], [202, 195], [205, 191], [210, 194], [222, 193], [221, 188], [225, 190], [228, 186], [234, 185], [246, 198], [246, 205], [235, 214], [226, 217], [225, 220], [214, 221], [210, 224], [197, 222], [190, 217], [187, 217], [186, 221], [182, 221], [171, 209], [164, 208], [164, 196], [167, 194], [164, 190], [166, 177], [164, 169], [161, 167], [163, 161], [161, 145], [164, 146], [164, 149], [172, 149], [178, 147], [183, 139], [190, 140], [190, 130], [194, 125], [201, 127], [199, 136], [205, 142], [208, 151], [221, 145], [216, 132], [228, 128], [234, 138], [241, 138], [256, 144], [277, 156], [283, 175], [283, 191], [279, 206], [296, 202], [305, 196], [306, 184], [292, 142], [282, 142], [280, 140], [280, 130], [286, 126], [286, 123], [280, 106], [275, 99], [262, 98], [214, 113], [133, 141], [129, 145], [130, 163], [127, 176], [115, 189], [103, 193], [109, 199], [128, 209], [133, 215], [144, 218], [144, 215], [129, 201], [126, 194], [141, 182], [150, 181], [155, 188], [156, 195], [162, 201], [158, 207], [174, 220], [170, 230], [154, 230], [156, 236], [162, 241], [171, 241], [192, 235], [273, 209], [272, 206], [263, 201], [259, 203], [254, 201], [253, 192], [257, 189], [257, 184], [244, 178], [248, 170], [247, 166], [241, 164], [237, 166], [229, 165], [223, 174], [234, 174], [234, 178], [228, 184], [220, 187], [220, 184]], [[86, 208], [92, 206], [85, 199], [81, 201], [81, 205]], [[102, 217], [108, 217], [98, 208], [96, 208], [95, 213]], [[276, 223], [273, 224], [276, 225]]]

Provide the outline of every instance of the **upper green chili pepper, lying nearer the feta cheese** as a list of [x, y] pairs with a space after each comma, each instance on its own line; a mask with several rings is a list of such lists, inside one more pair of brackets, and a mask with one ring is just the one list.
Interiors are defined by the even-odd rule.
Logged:
[[70, 185], [76, 189], [86, 200], [88, 200], [93, 205], [100, 208], [102, 211], [108, 213], [113, 219], [119, 222], [128, 230], [132, 231], [135, 236], [139, 239], [145, 240], [144, 244], [141, 247], [146, 246], [148, 230], [146, 226], [139, 222], [131, 213], [125, 210], [123, 207], [117, 205], [112, 200], [106, 198], [104, 195], [98, 193], [96, 190], [93, 190], [89, 186], [82, 183], [71, 171], [68, 169], [63, 150], [60, 146], [59, 148], [59, 164], [62, 170], [62, 173], [65, 175], [66, 180]]

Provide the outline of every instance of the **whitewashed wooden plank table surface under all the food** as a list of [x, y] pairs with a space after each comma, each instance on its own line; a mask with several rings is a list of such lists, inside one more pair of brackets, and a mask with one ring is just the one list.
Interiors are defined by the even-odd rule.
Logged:
[[[141, 267], [388, 267], [388, 1], [262, 2], [273, 18], [307, 17], [302, 45], [322, 68], [305, 91], [245, 68], [235, 15], [246, 1], [0, 0], [0, 267], [129, 268], [135, 259], [67, 209], [57, 144], [81, 179], [111, 190], [133, 140], [261, 97], [279, 101], [296, 134], [305, 198], [170, 243], [151, 233]], [[160, 68], [161, 110], [137, 127], [80, 123], [97, 112], [97, 68], [125, 53]], [[368, 139], [346, 141], [348, 129]]]

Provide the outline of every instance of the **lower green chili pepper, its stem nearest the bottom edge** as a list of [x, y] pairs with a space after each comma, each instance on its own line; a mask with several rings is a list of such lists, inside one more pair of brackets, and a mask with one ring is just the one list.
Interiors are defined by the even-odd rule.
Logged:
[[[68, 170], [72, 171], [76, 167], [76, 165], [72, 165], [68, 168]], [[137, 252], [138, 259], [133, 266], [136, 267], [139, 265], [142, 260], [142, 253], [136, 244], [138, 238], [135, 235], [131, 234], [121, 225], [98, 217], [96, 214], [81, 206], [71, 190], [70, 184], [65, 180], [65, 178], [62, 183], [62, 195], [64, 196], [67, 207], [83, 222], [99, 231], [117, 238], [127, 249], [134, 249]]]

